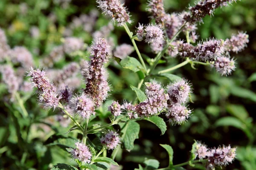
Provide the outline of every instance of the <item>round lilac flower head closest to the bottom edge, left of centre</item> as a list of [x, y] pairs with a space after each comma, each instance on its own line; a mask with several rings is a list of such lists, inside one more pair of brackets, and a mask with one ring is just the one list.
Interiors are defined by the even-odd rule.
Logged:
[[79, 161], [90, 163], [92, 154], [89, 148], [82, 142], [76, 142], [76, 147], [70, 150], [70, 154], [73, 159], [78, 159]]

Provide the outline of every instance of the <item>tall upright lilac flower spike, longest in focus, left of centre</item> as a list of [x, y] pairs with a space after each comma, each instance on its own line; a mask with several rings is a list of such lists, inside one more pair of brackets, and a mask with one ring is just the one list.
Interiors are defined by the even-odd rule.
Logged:
[[104, 38], [95, 39], [91, 48], [90, 63], [87, 66], [88, 70], [85, 70], [87, 83], [84, 93], [90, 95], [95, 106], [99, 107], [110, 91], [103, 64], [111, 57], [111, 48]]

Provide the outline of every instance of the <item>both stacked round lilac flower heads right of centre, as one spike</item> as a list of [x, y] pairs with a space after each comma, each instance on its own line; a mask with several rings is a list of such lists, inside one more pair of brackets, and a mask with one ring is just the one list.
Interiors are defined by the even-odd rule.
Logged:
[[189, 118], [191, 111], [183, 104], [188, 102], [189, 94], [192, 92], [187, 80], [181, 79], [170, 84], [168, 87], [168, 113], [166, 117], [169, 122], [181, 124]]

